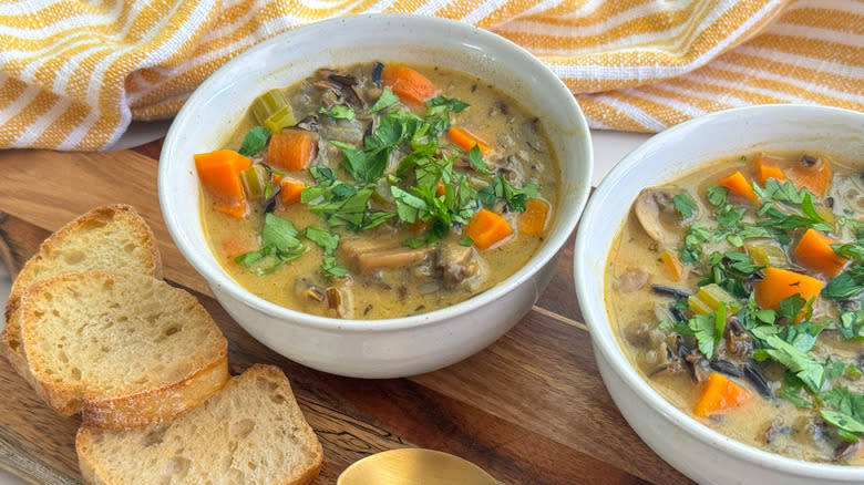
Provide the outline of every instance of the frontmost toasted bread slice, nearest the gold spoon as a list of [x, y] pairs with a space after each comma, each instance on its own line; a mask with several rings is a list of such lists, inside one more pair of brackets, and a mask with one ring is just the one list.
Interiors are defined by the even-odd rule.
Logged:
[[75, 451], [84, 482], [100, 485], [302, 485], [323, 456], [288, 379], [263, 364], [172, 421], [121, 431], [84, 425]]

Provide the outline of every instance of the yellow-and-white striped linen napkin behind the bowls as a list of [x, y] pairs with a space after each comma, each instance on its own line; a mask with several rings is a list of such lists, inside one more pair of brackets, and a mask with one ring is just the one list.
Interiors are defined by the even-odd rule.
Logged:
[[472, 23], [525, 47], [594, 128], [659, 132], [759, 103], [864, 111], [861, 0], [3, 0], [0, 148], [102, 149], [295, 27], [366, 12]]

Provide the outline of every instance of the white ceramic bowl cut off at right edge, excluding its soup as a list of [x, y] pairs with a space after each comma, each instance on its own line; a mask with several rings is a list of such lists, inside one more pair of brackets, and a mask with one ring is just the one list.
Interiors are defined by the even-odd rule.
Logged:
[[606, 260], [644, 187], [704, 162], [769, 149], [817, 149], [864, 159], [864, 113], [798, 105], [729, 110], [667, 130], [627, 155], [592, 196], [576, 236], [576, 292], [613, 400], [664, 460], [703, 484], [862, 484], [864, 467], [806, 463], [726, 437], [669, 404], [630, 367], [611, 332]]

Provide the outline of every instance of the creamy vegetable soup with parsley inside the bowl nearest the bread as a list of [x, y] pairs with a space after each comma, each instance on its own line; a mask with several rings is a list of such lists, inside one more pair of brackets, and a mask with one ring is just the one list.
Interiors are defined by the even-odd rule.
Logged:
[[445, 308], [515, 274], [554, 224], [560, 171], [541, 130], [456, 71], [320, 68], [194, 155], [204, 230], [234, 280], [286, 308], [369, 320]]

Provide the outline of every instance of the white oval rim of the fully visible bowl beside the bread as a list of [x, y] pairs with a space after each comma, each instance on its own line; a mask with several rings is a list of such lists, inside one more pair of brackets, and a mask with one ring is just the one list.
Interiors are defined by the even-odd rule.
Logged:
[[[572, 155], [574, 159], [583, 159], [585, 167], [582, 168], [585, 179], [576, 180], [575, 185], [579, 194], [573, 199], [573, 210], [557, 213], [558, 229], [546, 238], [543, 246], [528, 259], [528, 261], [520, 268], [516, 272], [498, 282], [497, 285], [488, 288], [487, 290], [463, 300], [459, 303], [429, 311], [425, 313], [419, 313], [409, 317], [399, 317], [391, 319], [378, 319], [378, 320], [350, 320], [350, 319], [336, 319], [329, 317], [320, 317], [311, 313], [305, 313], [290, 308], [281, 307], [276, 303], [271, 303], [260, 297], [257, 297], [244, 289], [215, 260], [209, 250], [193, 250], [186, 247], [183, 231], [186, 229], [169, 210], [168, 200], [165, 196], [163, 187], [167, 187], [171, 184], [169, 168], [175, 164], [171, 158], [173, 153], [177, 151], [177, 144], [182, 140], [183, 125], [186, 125], [193, 116], [193, 111], [197, 109], [197, 104], [206, 100], [206, 97], [216, 90], [224, 87], [230, 83], [229, 79], [225, 79], [235, 66], [241, 65], [248, 62], [248, 59], [254, 58], [259, 52], [269, 49], [274, 44], [284, 43], [286, 39], [306, 34], [306, 32], [328, 29], [338, 24], [344, 25], [346, 23], [359, 23], [363, 22], [378, 22], [378, 21], [394, 21], [404, 23], [403, 27], [410, 28], [410, 25], [429, 25], [436, 28], [446, 28], [454, 34], [463, 38], [470, 38], [474, 43], [483, 44], [497, 44], [502, 49], [507, 50], [508, 55], [513, 55], [523, 62], [526, 62], [536, 69], [535, 74], [542, 75], [545, 80], [545, 84], [548, 84], [548, 95], [558, 95], [562, 97], [562, 102], [570, 104], [570, 109], [576, 114], [576, 128], [579, 133], [584, 133], [584, 141], [579, 143], [580, 151]], [[370, 39], [374, 42], [374, 39]], [[421, 45], [421, 44], [418, 44]], [[424, 48], [429, 48], [428, 44], [422, 44]], [[327, 48], [322, 48], [327, 49]], [[290, 62], [290, 61], [288, 61]], [[279, 69], [279, 68], [276, 68]], [[275, 69], [275, 70], [276, 70]], [[220, 87], [222, 86], [222, 87]], [[565, 95], [566, 94], [566, 95]], [[564, 135], [563, 135], [564, 136]], [[582, 135], [568, 135], [568, 136], [582, 136]], [[565, 155], [556, 151], [558, 163], [563, 164]], [[504, 297], [515, 287], [528, 282], [534, 275], [541, 271], [551, 260], [554, 259], [563, 249], [568, 238], [573, 234], [579, 216], [588, 199], [592, 185], [592, 175], [594, 168], [594, 152], [590, 141], [590, 131], [585, 118], [582, 109], [575, 100], [575, 96], [564, 82], [556, 76], [545, 64], [536, 56], [531, 54], [527, 50], [518, 44], [497, 35], [487, 30], [459, 22], [451, 19], [426, 17], [410, 13], [364, 13], [357, 16], [347, 16], [332, 19], [326, 19], [317, 22], [311, 22], [305, 25], [297, 27], [276, 34], [269, 39], [266, 39], [256, 45], [239, 53], [234, 59], [229, 60], [210, 74], [188, 97], [179, 110], [177, 115], [168, 128], [163, 149], [160, 156], [160, 167], [157, 175], [158, 193], [160, 193], [160, 207], [163, 215], [163, 219], [166, 223], [168, 233], [174, 240], [177, 248], [181, 250], [185, 259], [195, 268], [195, 270], [202, 275], [209, 286], [216, 285], [224, 292], [227, 292], [232, 298], [243, 302], [244, 305], [255, 308], [269, 317], [278, 318], [280, 320], [288, 320], [292, 324], [298, 324], [306, 328], [316, 328], [321, 330], [338, 330], [339, 332], [349, 333], [370, 333], [370, 332], [390, 332], [394, 330], [418, 328], [440, 323], [457, 316], [465, 313], [472, 313], [477, 309], [493, 303], [495, 300]], [[560, 195], [559, 195], [560, 197]]]

